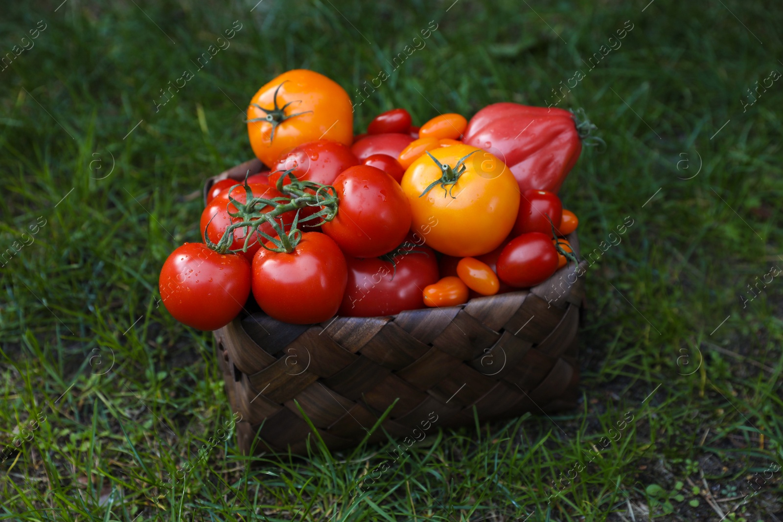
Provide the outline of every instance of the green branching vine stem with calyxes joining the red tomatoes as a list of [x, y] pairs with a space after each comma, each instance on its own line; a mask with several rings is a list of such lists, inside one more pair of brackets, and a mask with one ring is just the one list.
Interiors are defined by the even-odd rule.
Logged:
[[[250, 171], [247, 171], [245, 175], [244, 184], [234, 185], [231, 190], [237, 186], [244, 187], [245, 190], [245, 203], [235, 200], [229, 192], [229, 204], [226, 208], [227, 213], [231, 218], [236, 218], [236, 222], [233, 222], [226, 228], [226, 232], [223, 232], [218, 243], [212, 242], [204, 232], [204, 242], [207, 247], [215, 250], [219, 254], [237, 252], [247, 252], [248, 247], [254, 245], [258, 239], [254, 239], [251, 243], [251, 236], [258, 236], [266, 239], [272, 245], [271, 247], [265, 243], [261, 243], [261, 246], [267, 250], [273, 252], [291, 252], [298, 245], [301, 240], [301, 230], [297, 228], [301, 222], [312, 221], [314, 219], [320, 219], [321, 221], [316, 224], [322, 225], [327, 221], [332, 221], [337, 216], [337, 191], [332, 185], [323, 185], [319, 182], [312, 181], [300, 181], [293, 174], [294, 169], [288, 169], [283, 172], [280, 179], [277, 180], [276, 189], [282, 193], [283, 196], [273, 197], [271, 199], [254, 196], [249, 185], [247, 185], [247, 175]], [[283, 185], [283, 179], [289, 177], [290, 183]], [[236, 212], [232, 212], [229, 209], [231, 207], [236, 208]], [[271, 210], [265, 211], [265, 209], [271, 207]], [[321, 207], [319, 211], [305, 216], [305, 218], [299, 219], [299, 210], [304, 207]], [[294, 216], [294, 221], [291, 225], [290, 232], [286, 232], [285, 224], [283, 223], [283, 214], [297, 211]], [[213, 216], [214, 218], [214, 216]], [[277, 221], [280, 218], [280, 223]], [[211, 219], [209, 223], [211, 223]], [[207, 227], [209, 227], [207, 223]], [[277, 233], [277, 237], [269, 236], [265, 232], [262, 232], [259, 227], [264, 223], [269, 223], [272, 229]], [[230, 250], [233, 243], [234, 231], [236, 229], [247, 229], [245, 234], [244, 245], [240, 249]], [[255, 233], [254, 233], [255, 232]]]

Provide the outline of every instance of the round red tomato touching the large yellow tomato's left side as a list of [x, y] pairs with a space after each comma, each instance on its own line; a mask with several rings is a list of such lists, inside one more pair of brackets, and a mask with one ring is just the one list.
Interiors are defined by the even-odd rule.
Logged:
[[334, 220], [321, 226], [353, 257], [394, 250], [410, 230], [410, 205], [394, 178], [369, 165], [350, 167], [334, 180], [340, 201]]

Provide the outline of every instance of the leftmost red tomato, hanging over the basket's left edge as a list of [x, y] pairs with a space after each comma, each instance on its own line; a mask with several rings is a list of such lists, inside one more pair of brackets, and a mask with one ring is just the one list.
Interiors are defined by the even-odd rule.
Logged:
[[236, 254], [218, 254], [203, 243], [185, 243], [168, 256], [158, 288], [168, 312], [179, 322], [215, 330], [240, 313], [250, 295], [250, 263]]

